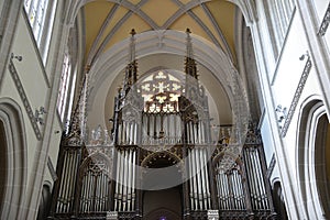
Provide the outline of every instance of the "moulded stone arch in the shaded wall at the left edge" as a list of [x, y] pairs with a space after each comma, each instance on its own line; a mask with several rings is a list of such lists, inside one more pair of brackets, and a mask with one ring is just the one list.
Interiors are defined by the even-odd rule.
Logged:
[[1, 169], [4, 185], [1, 186], [0, 218], [20, 219], [28, 178], [28, 151], [22, 111], [12, 99], [0, 99], [0, 122], [4, 140], [0, 144], [1, 154], [6, 157], [6, 167]]

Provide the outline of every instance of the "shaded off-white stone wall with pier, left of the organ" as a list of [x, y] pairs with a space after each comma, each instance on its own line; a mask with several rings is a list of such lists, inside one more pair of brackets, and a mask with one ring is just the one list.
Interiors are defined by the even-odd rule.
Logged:
[[[14, 196], [15, 188], [20, 187], [20, 191], [23, 193], [18, 195], [20, 200], [13, 200], [12, 204], [4, 207], [6, 210], [1, 210], [2, 216], [0, 216], [0, 219], [35, 219], [42, 185], [54, 183], [53, 168], [56, 168], [62, 135], [62, 122], [55, 108], [61, 74], [58, 69], [62, 67], [57, 62], [61, 61], [61, 53], [55, 54], [55, 52], [61, 50], [58, 45], [62, 36], [59, 32], [63, 22], [59, 16], [62, 11], [58, 10], [57, 12], [58, 16], [56, 16], [51, 43], [51, 56], [46, 66], [44, 66], [38, 48], [34, 43], [25, 12], [19, 9], [22, 4], [15, 4], [14, 2], [11, 4], [11, 1], [4, 1], [3, 3], [18, 8], [14, 11], [18, 15], [18, 22], [14, 24], [9, 22], [7, 26], [7, 29], [13, 30], [10, 46], [3, 47], [7, 42], [2, 42], [1, 45], [1, 56], [4, 57], [1, 58], [1, 62], [4, 63], [1, 63], [0, 66], [3, 67], [4, 72], [1, 73], [0, 99], [1, 102], [13, 100], [19, 106], [20, 113], [23, 116], [21, 123], [23, 124], [24, 135], [18, 133], [11, 135], [22, 136], [25, 151], [16, 152], [16, 146], [13, 146], [12, 152], [8, 152], [8, 154], [18, 155], [9, 162], [13, 164], [14, 168], [8, 173], [9, 179], [13, 178], [13, 184], [10, 187], [13, 188]], [[4, 6], [3, 3], [0, 4], [0, 11]], [[58, 2], [58, 9], [62, 9], [62, 1]], [[11, 14], [14, 12], [11, 10], [9, 15], [14, 16], [15, 14]], [[6, 34], [9, 33], [6, 32]], [[11, 58], [11, 53], [14, 56], [22, 57], [22, 59]], [[10, 70], [9, 65], [11, 62], [15, 70]], [[15, 74], [12, 74], [12, 72]], [[40, 110], [41, 107], [47, 112], [41, 116], [43, 124], [35, 121], [35, 110]], [[15, 160], [23, 160], [24, 167], [15, 168], [14, 164], [19, 164]], [[15, 182], [15, 175], [22, 176], [22, 179]]]

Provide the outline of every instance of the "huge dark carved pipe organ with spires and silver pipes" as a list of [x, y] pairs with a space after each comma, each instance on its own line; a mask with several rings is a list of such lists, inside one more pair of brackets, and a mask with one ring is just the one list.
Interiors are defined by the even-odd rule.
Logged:
[[276, 219], [260, 133], [252, 122], [211, 125], [186, 33], [184, 72], [139, 78], [132, 30], [110, 131], [87, 132], [86, 73], [61, 142], [50, 219]]

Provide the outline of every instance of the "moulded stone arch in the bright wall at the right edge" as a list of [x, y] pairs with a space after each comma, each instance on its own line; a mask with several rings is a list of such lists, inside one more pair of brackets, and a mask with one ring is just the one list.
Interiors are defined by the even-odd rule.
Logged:
[[324, 156], [329, 120], [324, 103], [315, 97], [304, 102], [300, 112], [297, 134], [300, 197], [309, 219], [324, 219], [329, 218], [329, 180]]

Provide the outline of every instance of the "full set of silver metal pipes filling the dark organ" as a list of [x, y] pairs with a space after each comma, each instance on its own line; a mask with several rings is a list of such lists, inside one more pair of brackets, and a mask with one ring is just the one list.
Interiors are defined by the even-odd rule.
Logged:
[[[122, 109], [119, 108], [117, 113], [121, 116], [121, 111]], [[141, 184], [142, 174], [139, 173], [135, 165], [141, 165], [144, 158], [153, 154], [148, 146], [153, 150], [157, 148], [158, 144], [157, 151], [163, 151], [162, 147], [166, 146], [164, 155], [168, 158], [169, 155], [175, 154], [183, 160], [187, 154], [184, 165], [186, 170], [183, 170], [183, 175], [188, 174], [190, 178], [183, 184], [184, 215], [190, 212], [193, 218], [194, 213], [202, 213], [210, 209], [219, 209], [220, 213], [232, 210], [270, 209], [267, 188], [257, 148], [244, 147], [243, 165], [237, 163], [231, 170], [221, 170], [221, 160], [217, 163], [210, 162], [208, 156], [213, 160], [217, 155], [209, 155], [212, 153], [206, 148], [210, 142], [208, 117], [205, 117], [207, 120], [194, 118], [194, 112], [195, 110], [191, 111], [189, 108], [187, 112], [143, 111], [141, 112], [142, 119], [138, 118], [132, 121], [124, 121], [118, 117], [117, 128], [114, 128], [117, 142], [113, 148], [117, 151], [113, 152], [116, 154], [113, 155], [116, 156], [113, 158], [116, 166], [113, 166], [116, 169], [113, 170], [113, 182], [106, 172], [110, 169], [108, 165], [98, 174], [89, 170], [88, 166], [84, 167], [84, 175], [78, 173], [77, 170], [81, 169], [79, 152], [65, 151], [62, 158], [63, 167], [68, 172], [63, 172], [61, 175], [56, 211], [70, 212], [75, 209], [74, 207], [77, 207], [81, 215], [116, 210], [119, 213], [136, 211], [141, 216], [142, 193], [141, 189], [135, 188], [139, 188], [138, 185]], [[208, 112], [206, 111], [206, 113]], [[144, 147], [140, 148], [140, 143]], [[102, 144], [98, 147], [100, 152], [106, 152]], [[179, 147], [183, 148], [182, 155], [178, 153], [180, 152]], [[220, 147], [218, 150], [222, 151]], [[107, 156], [111, 158], [110, 155]], [[78, 204], [74, 201], [76, 188], [72, 187], [76, 185], [77, 177], [79, 177], [80, 184]], [[217, 198], [215, 198], [215, 194]]]

